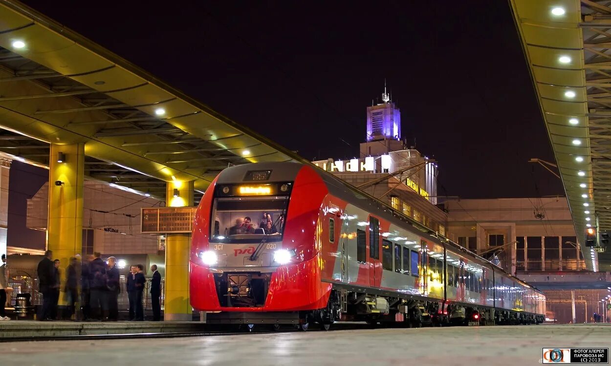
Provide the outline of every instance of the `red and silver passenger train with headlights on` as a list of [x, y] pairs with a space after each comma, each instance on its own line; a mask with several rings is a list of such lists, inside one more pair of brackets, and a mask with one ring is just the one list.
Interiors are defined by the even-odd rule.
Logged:
[[302, 163], [227, 168], [197, 208], [191, 304], [211, 323], [529, 324], [545, 296]]

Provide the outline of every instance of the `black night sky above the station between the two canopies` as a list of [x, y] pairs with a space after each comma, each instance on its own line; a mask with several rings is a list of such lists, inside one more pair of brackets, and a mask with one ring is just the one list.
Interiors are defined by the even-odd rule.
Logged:
[[359, 153], [386, 78], [439, 195], [563, 195], [507, 1], [24, 2], [307, 159]]

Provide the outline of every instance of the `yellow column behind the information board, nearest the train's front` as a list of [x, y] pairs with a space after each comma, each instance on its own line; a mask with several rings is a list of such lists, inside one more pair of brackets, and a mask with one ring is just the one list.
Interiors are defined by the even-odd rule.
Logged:
[[[193, 181], [168, 182], [166, 205], [170, 207], [193, 206], [193, 193]], [[190, 252], [191, 234], [167, 234], [164, 320], [192, 320], [193, 310], [189, 300]]]

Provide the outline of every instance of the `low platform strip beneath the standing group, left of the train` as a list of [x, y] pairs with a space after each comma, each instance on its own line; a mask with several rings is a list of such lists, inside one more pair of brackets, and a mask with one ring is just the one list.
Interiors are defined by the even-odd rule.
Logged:
[[11, 337], [90, 336], [203, 331], [196, 321], [0, 321], [0, 339]]

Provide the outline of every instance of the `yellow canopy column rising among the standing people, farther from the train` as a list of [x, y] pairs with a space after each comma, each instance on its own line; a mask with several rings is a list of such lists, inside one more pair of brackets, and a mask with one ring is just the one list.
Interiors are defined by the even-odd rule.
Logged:
[[84, 143], [51, 144], [49, 158], [49, 216], [47, 249], [60, 260], [59, 301], [64, 301], [65, 268], [68, 260], [81, 253], [82, 195], [85, 167]]

